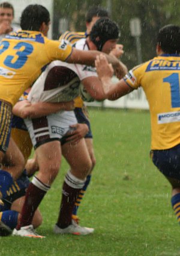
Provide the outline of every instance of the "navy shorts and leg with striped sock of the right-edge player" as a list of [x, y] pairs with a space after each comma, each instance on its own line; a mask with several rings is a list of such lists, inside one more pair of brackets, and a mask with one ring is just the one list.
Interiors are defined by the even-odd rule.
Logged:
[[172, 186], [172, 207], [180, 223], [180, 145], [152, 151], [152, 161]]

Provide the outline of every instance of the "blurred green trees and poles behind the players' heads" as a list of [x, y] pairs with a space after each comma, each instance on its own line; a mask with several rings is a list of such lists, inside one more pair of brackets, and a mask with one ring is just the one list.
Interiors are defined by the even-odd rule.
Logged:
[[[128, 69], [154, 57], [161, 27], [169, 23], [180, 24], [180, 0], [54, 0], [53, 38], [58, 39], [67, 29], [85, 31], [86, 11], [92, 5], [106, 8], [118, 23], [119, 43], [125, 50], [122, 61]], [[131, 31], [133, 26], [135, 31]]]

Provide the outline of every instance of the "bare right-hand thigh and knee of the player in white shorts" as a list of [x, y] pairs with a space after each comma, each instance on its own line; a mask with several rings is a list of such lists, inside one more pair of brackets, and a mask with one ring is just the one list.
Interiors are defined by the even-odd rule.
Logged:
[[65, 143], [62, 145], [62, 154], [77, 178], [85, 178], [88, 175], [92, 165], [85, 139], [80, 140], [76, 145]]

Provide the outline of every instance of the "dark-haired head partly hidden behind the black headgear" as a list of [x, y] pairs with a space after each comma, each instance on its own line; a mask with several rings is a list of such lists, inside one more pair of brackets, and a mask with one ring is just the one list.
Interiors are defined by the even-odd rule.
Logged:
[[86, 14], [86, 33], [89, 34], [94, 23], [102, 17], [109, 17], [107, 10], [98, 6], [91, 7]]

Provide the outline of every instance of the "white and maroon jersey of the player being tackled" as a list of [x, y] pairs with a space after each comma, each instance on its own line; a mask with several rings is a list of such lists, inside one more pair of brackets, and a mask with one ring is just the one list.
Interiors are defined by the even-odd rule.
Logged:
[[[77, 41], [75, 48], [88, 51], [86, 39]], [[31, 102], [71, 101], [80, 95], [80, 81], [97, 76], [95, 67], [70, 64], [60, 60], [52, 61], [35, 81], [29, 93]]]

